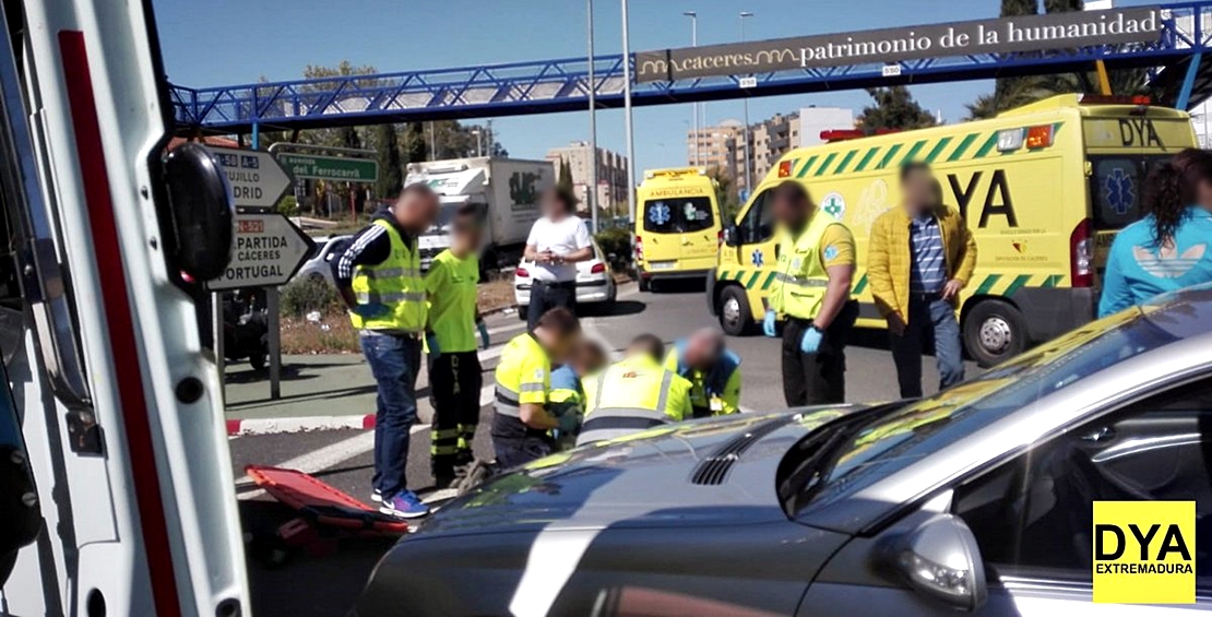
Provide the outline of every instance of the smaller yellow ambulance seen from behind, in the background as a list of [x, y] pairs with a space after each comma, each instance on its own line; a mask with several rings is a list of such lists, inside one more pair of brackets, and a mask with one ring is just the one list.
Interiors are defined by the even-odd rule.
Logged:
[[640, 290], [653, 281], [698, 279], [715, 268], [724, 235], [715, 181], [707, 170], [648, 170], [636, 189], [635, 267]]

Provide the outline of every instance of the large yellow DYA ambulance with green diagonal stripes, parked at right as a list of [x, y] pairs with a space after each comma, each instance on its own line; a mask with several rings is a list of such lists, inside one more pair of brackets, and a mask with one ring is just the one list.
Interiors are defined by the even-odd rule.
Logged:
[[731, 335], [761, 320], [777, 262], [772, 189], [790, 179], [854, 233], [858, 325], [885, 327], [868, 286], [868, 236], [899, 206], [901, 165], [922, 161], [976, 238], [960, 324], [968, 355], [991, 365], [1094, 318], [1097, 270], [1115, 232], [1143, 216], [1147, 172], [1195, 144], [1185, 112], [1143, 97], [1060, 95], [990, 120], [795, 149], [726, 229], [708, 302]]

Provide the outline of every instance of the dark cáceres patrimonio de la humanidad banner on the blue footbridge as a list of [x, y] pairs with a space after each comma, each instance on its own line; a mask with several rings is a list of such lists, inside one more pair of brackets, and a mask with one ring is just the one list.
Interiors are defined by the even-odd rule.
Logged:
[[1156, 41], [1161, 8], [1131, 7], [822, 34], [635, 55], [636, 81]]

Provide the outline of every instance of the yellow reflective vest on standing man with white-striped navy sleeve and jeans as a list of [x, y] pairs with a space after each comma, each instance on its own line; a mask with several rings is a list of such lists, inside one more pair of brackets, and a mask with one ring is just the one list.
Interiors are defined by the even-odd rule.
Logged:
[[353, 290], [359, 304], [382, 304], [382, 315], [364, 319], [350, 313], [358, 330], [393, 330], [423, 332], [428, 308], [425, 279], [421, 275], [421, 253], [408, 246], [391, 223], [376, 219], [375, 225], [387, 229], [391, 255], [376, 265], [359, 265], [354, 270]]

